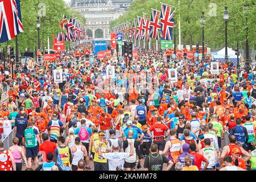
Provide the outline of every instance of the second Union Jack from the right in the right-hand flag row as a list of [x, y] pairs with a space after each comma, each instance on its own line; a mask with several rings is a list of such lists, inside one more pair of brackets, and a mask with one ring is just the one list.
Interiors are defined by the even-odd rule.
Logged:
[[150, 38], [158, 39], [158, 32], [161, 30], [161, 24], [159, 22], [160, 11], [151, 9], [151, 19], [150, 19]]

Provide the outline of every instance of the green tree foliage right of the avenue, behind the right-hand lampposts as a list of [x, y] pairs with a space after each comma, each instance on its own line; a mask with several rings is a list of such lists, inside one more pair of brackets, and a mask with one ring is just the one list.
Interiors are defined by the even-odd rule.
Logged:
[[[255, 1], [254, 0], [162, 0], [161, 2], [174, 6], [176, 9], [175, 23], [180, 15], [181, 44], [195, 45], [202, 42], [202, 25], [200, 23], [201, 11], [205, 11], [206, 23], [204, 24], [205, 44], [211, 48], [222, 48], [225, 46], [225, 20], [224, 8], [228, 6], [228, 46], [236, 47], [237, 42], [244, 45], [246, 36], [246, 17], [248, 26], [249, 46], [255, 49]], [[245, 3], [249, 3], [249, 12], [243, 11]], [[135, 0], [130, 9], [118, 19], [113, 20], [110, 26], [129, 21], [142, 16], [142, 13], [151, 15], [151, 8], [160, 10], [159, 0]], [[178, 24], [177, 24], [178, 25]], [[179, 31], [176, 31], [176, 37]]]

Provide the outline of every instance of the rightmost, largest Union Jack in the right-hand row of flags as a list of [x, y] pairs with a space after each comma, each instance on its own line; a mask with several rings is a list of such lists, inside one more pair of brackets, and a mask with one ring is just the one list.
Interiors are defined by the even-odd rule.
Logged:
[[172, 27], [174, 26], [175, 10], [171, 11], [171, 6], [161, 3], [161, 35], [164, 40], [172, 40]]

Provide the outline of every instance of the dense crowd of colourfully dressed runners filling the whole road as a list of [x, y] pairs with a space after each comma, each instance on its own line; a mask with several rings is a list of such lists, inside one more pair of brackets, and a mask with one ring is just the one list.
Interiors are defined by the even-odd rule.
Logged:
[[[81, 44], [3, 78], [0, 171], [256, 170], [255, 70], [238, 74], [220, 62], [212, 75], [210, 60], [167, 61], [145, 49], [126, 68], [111, 55], [88, 59], [89, 50]], [[63, 82], [54, 82], [54, 69]]]

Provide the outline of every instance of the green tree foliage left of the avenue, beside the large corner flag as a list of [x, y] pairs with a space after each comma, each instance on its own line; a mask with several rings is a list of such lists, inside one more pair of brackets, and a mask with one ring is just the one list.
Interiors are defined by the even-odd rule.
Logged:
[[[69, 19], [71, 15], [79, 19], [85, 25], [86, 19], [79, 12], [69, 10], [64, 6], [63, 0], [21, 0], [20, 9], [22, 14], [22, 24], [24, 32], [18, 35], [19, 52], [24, 52], [26, 48], [34, 51], [38, 47], [37, 16], [40, 19], [40, 48], [47, 47], [49, 36], [50, 48], [52, 48], [53, 35], [61, 31], [60, 22], [64, 15]], [[65, 32], [65, 30], [63, 30]], [[1, 47], [15, 46], [15, 39], [2, 43]]]

